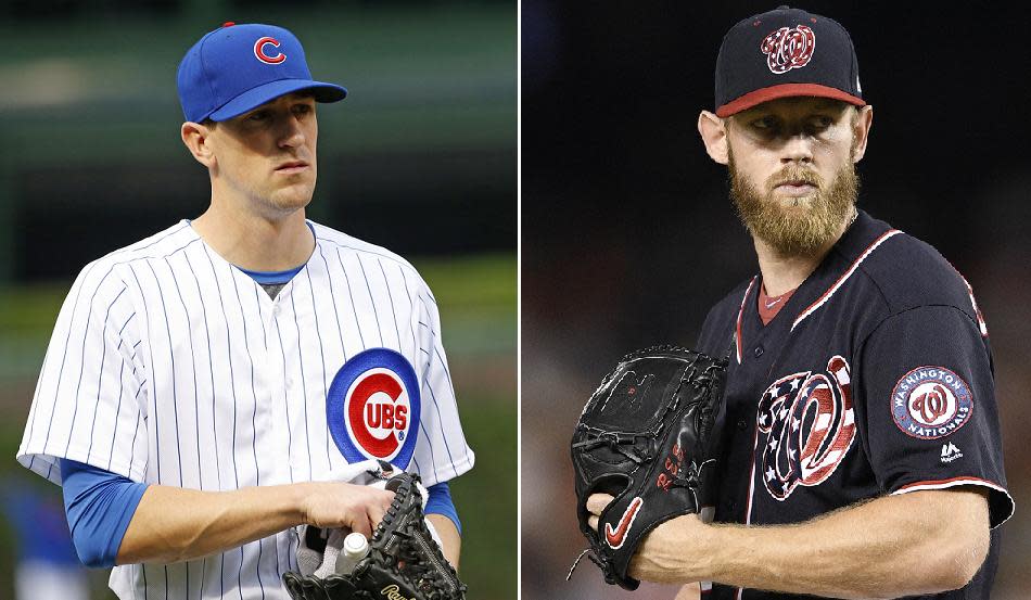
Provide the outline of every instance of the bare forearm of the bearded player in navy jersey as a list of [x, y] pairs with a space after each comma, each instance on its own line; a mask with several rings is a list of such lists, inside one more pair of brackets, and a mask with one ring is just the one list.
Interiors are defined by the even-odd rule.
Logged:
[[[714, 525], [687, 580], [833, 598], [895, 598], [962, 587], [988, 552], [977, 492], [913, 493], [798, 525]], [[688, 541], [685, 540], [685, 544]]]

